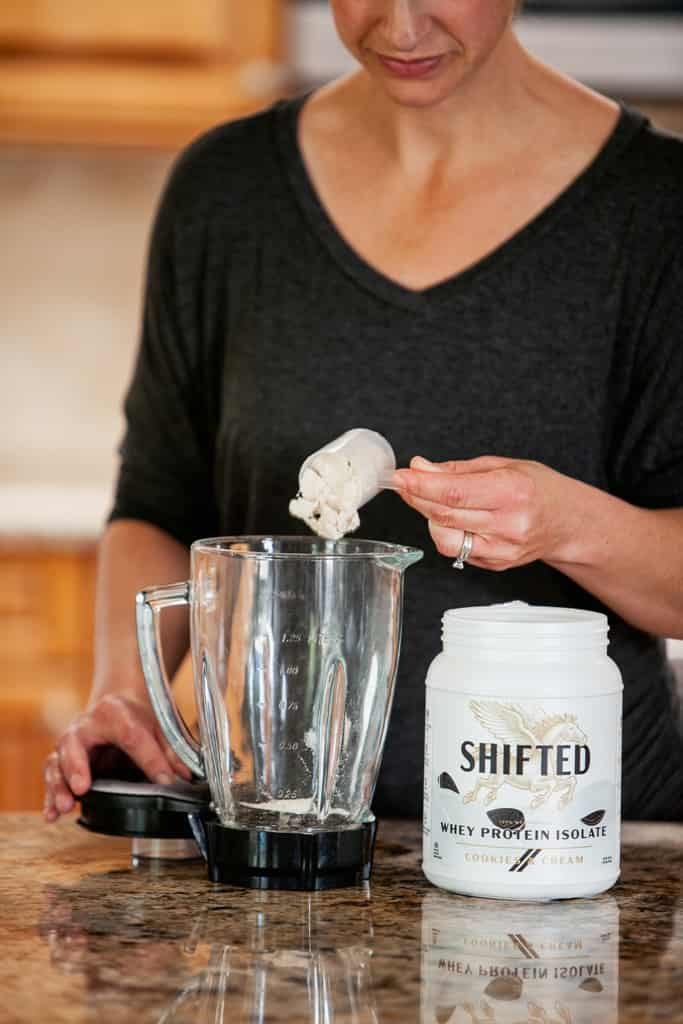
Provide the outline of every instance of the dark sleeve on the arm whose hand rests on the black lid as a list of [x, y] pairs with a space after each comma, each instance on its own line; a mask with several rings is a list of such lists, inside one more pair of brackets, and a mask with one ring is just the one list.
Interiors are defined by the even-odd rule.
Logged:
[[[213, 487], [218, 368], [211, 365], [207, 220], [182, 161], [150, 244], [139, 349], [110, 521], [142, 519], [182, 544], [218, 532]], [[195, 188], [197, 191], [197, 188]]]

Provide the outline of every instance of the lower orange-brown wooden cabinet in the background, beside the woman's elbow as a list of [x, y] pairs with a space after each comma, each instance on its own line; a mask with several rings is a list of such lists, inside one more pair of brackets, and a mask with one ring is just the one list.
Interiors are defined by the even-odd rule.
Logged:
[[94, 545], [0, 543], [0, 810], [43, 803], [43, 762], [92, 673]]

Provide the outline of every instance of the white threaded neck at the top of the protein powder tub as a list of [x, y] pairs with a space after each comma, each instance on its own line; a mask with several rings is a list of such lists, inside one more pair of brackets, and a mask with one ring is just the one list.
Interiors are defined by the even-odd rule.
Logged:
[[444, 639], [605, 639], [607, 627], [607, 616], [599, 611], [524, 601], [451, 608], [443, 615]]

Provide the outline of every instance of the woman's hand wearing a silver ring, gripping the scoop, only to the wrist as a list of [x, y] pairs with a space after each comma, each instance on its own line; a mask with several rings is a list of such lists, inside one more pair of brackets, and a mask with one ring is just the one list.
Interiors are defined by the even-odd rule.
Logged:
[[561, 561], [571, 542], [578, 481], [541, 463], [498, 456], [431, 463], [416, 457], [393, 479], [450, 558], [459, 556], [466, 530], [473, 537], [468, 563], [496, 570], [536, 559]]

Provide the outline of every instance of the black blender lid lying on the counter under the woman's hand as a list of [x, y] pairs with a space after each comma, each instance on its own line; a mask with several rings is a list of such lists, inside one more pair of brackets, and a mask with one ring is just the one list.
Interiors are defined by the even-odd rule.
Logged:
[[187, 815], [208, 814], [209, 800], [205, 783], [96, 779], [81, 797], [78, 823], [105, 836], [194, 839]]

